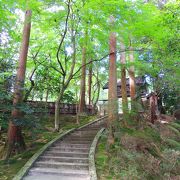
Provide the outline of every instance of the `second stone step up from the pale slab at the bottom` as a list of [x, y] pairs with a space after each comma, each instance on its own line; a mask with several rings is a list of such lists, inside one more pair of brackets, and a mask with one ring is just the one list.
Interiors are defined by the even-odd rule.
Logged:
[[41, 156], [41, 161], [55, 161], [55, 162], [71, 162], [71, 163], [88, 163], [88, 158], [76, 158], [76, 157], [58, 157], [58, 156]]

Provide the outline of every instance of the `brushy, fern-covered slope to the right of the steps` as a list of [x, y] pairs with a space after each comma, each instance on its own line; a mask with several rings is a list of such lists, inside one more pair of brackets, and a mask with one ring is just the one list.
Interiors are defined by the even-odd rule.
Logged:
[[179, 180], [180, 123], [136, 123], [119, 127], [110, 150], [103, 134], [95, 159], [98, 179]]

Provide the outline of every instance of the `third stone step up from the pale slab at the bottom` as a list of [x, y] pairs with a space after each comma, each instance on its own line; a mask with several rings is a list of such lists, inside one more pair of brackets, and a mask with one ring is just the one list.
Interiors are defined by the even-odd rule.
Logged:
[[59, 156], [59, 157], [88, 157], [88, 153], [64, 152], [64, 151], [58, 151], [58, 152], [48, 152], [48, 151], [46, 151], [44, 153], [44, 155]]

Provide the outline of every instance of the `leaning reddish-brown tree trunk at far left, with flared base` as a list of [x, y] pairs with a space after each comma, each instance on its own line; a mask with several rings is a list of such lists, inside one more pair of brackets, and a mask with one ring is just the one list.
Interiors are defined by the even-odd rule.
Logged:
[[24, 89], [24, 80], [26, 72], [26, 61], [29, 47], [29, 38], [30, 38], [30, 29], [31, 29], [31, 11], [27, 10], [25, 13], [24, 29], [23, 29], [23, 39], [22, 46], [20, 50], [19, 65], [17, 69], [16, 84], [14, 88], [14, 98], [12, 110], [12, 120], [9, 122], [8, 128], [8, 142], [7, 142], [7, 151], [5, 158], [9, 158], [12, 154], [12, 151], [21, 152], [25, 150], [25, 143], [21, 133], [21, 126], [17, 125], [14, 120], [20, 119], [23, 116], [23, 113], [17, 108], [19, 104], [23, 101], [23, 89]]

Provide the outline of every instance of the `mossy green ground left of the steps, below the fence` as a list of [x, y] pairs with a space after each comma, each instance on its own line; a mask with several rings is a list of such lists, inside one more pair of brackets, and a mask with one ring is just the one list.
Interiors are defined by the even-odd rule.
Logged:
[[[80, 125], [84, 125], [91, 120], [94, 120], [95, 116], [80, 117]], [[68, 129], [78, 127], [76, 124], [76, 116], [61, 115], [61, 129], [60, 132], [54, 132], [54, 117], [46, 116], [39, 117], [38, 127], [23, 131], [27, 150], [19, 155], [14, 155], [8, 161], [0, 160], [0, 180], [12, 180], [14, 175], [24, 166], [24, 164], [36, 153], [43, 145], [55, 138], [59, 133], [63, 133]], [[3, 142], [5, 142], [7, 133], [1, 134], [0, 149], [3, 148]]]

